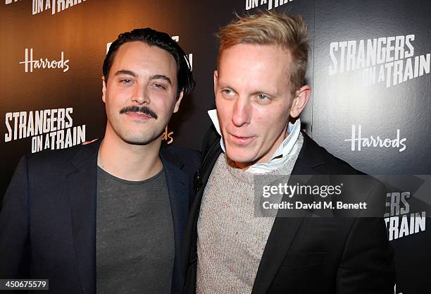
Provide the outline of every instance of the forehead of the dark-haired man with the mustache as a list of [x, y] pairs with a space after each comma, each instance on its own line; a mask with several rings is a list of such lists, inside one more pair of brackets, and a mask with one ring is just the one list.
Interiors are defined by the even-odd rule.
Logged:
[[110, 75], [116, 71], [130, 70], [137, 74], [163, 74], [176, 78], [177, 65], [168, 51], [144, 42], [127, 42], [115, 54]]

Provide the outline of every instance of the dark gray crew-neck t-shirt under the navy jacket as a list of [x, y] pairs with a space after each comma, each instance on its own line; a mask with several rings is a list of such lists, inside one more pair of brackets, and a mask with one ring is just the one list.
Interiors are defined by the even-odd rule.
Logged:
[[174, 246], [164, 171], [129, 181], [98, 167], [96, 292], [170, 293]]

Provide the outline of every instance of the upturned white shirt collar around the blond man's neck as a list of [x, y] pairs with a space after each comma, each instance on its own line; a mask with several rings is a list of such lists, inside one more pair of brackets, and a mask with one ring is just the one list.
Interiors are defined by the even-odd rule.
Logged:
[[[211, 121], [213, 121], [215, 130], [217, 130], [217, 133], [221, 136], [220, 147], [223, 152], [226, 152], [225, 142], [220, 130], [220, 122], [218, 121], [217, 109], [208, 110], [208, 115], [210, 116]], [[269, 171], [279, 169], [283, 164], [285, 164], [289, 158], [289, 153], [292, 151], [296, 141], [298, 140], [299, 133], [301, 133], [301, 121], [299, 118], [295, 123], [289, 123], [289, 125], [287, 125], [287, 132], [289, 135], [285, 137], [285, 140], [283, 140], [277, 150], [275, 150], [273, 156], [268, 162], [263, 164], [253, 164], [246, 171], [249, 173], [268, 173]]]

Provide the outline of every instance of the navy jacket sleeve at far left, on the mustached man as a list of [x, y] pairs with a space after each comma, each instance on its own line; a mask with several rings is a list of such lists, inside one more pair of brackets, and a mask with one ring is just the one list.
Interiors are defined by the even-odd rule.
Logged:
[[0, 278], [28, 275], [28, 190], [27, 157], [22, 157], [4, 195], [0, 213]]

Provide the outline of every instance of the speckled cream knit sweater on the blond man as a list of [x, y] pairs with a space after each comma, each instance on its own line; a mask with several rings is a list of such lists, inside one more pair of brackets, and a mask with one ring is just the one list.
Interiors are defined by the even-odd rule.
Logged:
[[[290, 175], [304, 138], [271, 173]], [[235, 168], [222, 153], [202, 199], [197, 225], [196, 294], [249, 294], [274, 217], [256, 217], [254, 174]]]

